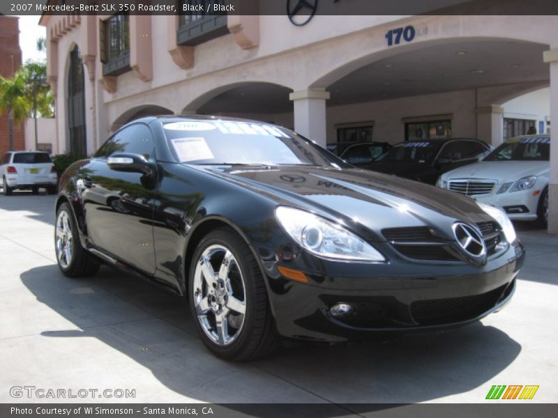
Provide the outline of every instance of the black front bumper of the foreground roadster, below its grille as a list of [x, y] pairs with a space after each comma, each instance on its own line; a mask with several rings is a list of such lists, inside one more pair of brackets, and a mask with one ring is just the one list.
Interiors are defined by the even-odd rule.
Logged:
[[[271, 308], [282, 336], [359, 341], [384, 334], [459, 327], [502, 309], [515, 291], [515, 277], [524, 259], [525, 250], [516, 242], [484, 268], [418, 266], [415, 274], [360, 279], [324, 277], [318, 285], [290, 281], [269, 270], [266, 275]], [[400, 271], [397, 265], [391, 267], [393, 272]], [[409, 266], [407, 272], [408, 269]], [[365, 286], [355, 286], [359, 281], [366, 282]], [[354, 313], [331, 316], [329, 309], [340, 302], [352, 304]]]

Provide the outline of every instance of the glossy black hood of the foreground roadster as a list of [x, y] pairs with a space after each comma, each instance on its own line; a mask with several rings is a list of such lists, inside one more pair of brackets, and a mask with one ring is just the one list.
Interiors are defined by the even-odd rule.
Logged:
[[[451, 225], [491, 220], [472, 200], [404, 178], [361, 169], [322, 167], [211, 167], [279, 204], [297, 206], [368, 230], [430, 226], [452, 239]], [[379, 235], [376, 239], [382, 239]]]

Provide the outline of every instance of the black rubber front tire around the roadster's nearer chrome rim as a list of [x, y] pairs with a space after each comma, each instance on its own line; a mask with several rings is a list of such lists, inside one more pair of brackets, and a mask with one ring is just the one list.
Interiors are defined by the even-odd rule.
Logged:
[[[196, 312], [196, 295], [199, 294], [197, 292], [199, 289], [195, 288], [197, 287], [195, 286], [195, 272], [199, 268], [200, 256], [212, 246], [228, 249], [234, 256], [235, 265], [238, 266], [243, 277], [246, 314], [243, 316], [243, 325], [236, 331], [238, 334], [235, 334], [234, 341], [229, 345], [219, 344], [206, 335]], [[229, 293], [229, 295], [232, 295], [232, 293]], [[262, 271], [246, 242], [232, 229], [216, 229], [199, 242], [190, 263], [188, 299], [196, 330], [205, 346], [217, 357], [237, 362], [246, 361], [269, 355], [278, 347], [280, 337], [269, 307], [269, 298]], [[209, 315], [213, 313], [212, 311], [208, 312]], [[231, 325], [228, 317], [226, 320], [228, 328]], [[234, 327], [232, 329], [234, 330]]]

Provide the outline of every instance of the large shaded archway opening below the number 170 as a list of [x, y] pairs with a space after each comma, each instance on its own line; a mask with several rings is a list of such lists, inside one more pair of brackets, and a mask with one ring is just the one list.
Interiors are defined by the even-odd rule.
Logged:
[[321, 75], [328, 142], [357, 132], [407, 139], [503, 139], [502, 103], [548, 86], [548, 45], [507, 38], [448, 38], [361, 56]]

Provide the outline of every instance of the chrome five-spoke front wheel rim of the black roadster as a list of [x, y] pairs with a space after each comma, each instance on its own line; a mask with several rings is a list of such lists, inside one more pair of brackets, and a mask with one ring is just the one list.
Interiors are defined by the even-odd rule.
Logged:
[[228, 346], [240, 335], [246, 314], [246, 285], [239, 263], [223, 245], [210, 245], [194, 272], [197, 320], [209, 339]]

